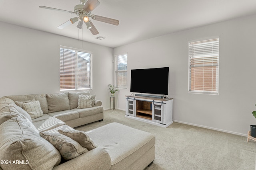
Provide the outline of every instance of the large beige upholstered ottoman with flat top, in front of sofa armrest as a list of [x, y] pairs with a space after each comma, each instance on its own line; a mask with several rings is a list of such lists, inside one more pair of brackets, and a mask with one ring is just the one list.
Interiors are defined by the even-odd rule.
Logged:
[[155, 137], [148, 132], [110, 123], [86, 133], [108, 151], [110, 170], [143, 170], [155, 158]]

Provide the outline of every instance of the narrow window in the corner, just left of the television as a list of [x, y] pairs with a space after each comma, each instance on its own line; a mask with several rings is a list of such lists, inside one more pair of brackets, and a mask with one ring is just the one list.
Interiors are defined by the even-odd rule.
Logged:
[[116, 86], [127, 88], [127, 54], [116, 56]]

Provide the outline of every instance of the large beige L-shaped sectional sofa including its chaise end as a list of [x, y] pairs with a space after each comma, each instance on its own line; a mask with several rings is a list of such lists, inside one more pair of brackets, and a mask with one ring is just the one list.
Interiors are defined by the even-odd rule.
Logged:
[[[69, 107], [64, 106], [67, 100], [62, 100], [66, 94]], [[155, 137], [150, 133], [119, 123], [86, 133], [74, 130], [72, 127], [83, 124], [82, 120], [87, 123], [103, 119], [100, 101], [94, 101], [94, 109], [79, 110], [71, 105], [76, 101], [74, 96], [60, 93], [0, 98], [0, 169], [143, 170], [152, 164]], [[38, 103], [42, 103], [40, 108]]]

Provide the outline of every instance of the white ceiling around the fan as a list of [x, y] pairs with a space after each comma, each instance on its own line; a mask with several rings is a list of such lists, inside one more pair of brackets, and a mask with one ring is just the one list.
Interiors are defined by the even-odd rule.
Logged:
[[[92, 14], [114, 18], [119, 25], [92, 20], [98, 35], [84, 26], [57, 29], [75, 14], [38, 8], [74, 11], [79, 0], [0, 0], [0, 21], [38, 29], [107, 47], [118, 47], [168, 33], [256, 14], [256, 0], [99, 0]], [[106, 39], [95, 39], [98, 36]]]

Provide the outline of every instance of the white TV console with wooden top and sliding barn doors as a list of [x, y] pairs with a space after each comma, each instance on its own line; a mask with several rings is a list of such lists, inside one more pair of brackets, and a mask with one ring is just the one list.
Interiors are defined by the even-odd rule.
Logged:
[[125, 117], [168, 127], [172, 124], [173, 98], [157, 98], [151, 96], [125, 96]]

